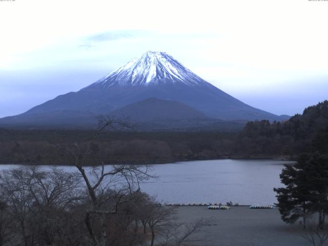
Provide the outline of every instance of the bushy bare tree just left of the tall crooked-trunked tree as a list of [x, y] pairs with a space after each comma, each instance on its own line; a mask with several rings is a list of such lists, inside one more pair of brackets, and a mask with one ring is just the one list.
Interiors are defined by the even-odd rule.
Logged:
[[30, 212], [36, 224], [35, 240], [51, 245], [59, 231], [67, 228], [64, 212], [83, 198], [80, 178], [58, 168], [46, 172], [32, 166], [23, 172], [23, 185], [34, 199]]

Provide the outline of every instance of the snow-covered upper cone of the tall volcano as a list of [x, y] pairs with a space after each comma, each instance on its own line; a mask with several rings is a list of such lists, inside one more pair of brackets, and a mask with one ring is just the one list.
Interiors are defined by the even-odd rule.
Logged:
[[151, 86], [183, 83], [190, 86], [209, 84], [166, 52], [147, 51], [124, 66], [90, 85], [103, 86]]

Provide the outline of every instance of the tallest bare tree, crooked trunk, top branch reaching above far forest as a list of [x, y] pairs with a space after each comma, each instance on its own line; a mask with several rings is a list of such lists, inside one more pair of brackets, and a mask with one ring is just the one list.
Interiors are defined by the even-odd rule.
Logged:
[[[117, 206], [113, 207], [111, 196], [106, 196], [110, 189], [132, 191], [139, 188], [139, 182], [149, 179], [148, 166], [138, 165], [114, 165], [109, 170], [105, 168], [105, 162], [85, 163], [86, 158], [93, 152], [96, 139], [107, 132], [108, 129], [131, 128], [128, 120], [116, 120], [112, 117], [100, 116], [99, 128], [94, 137], [86, 146], [80, 146], [77, 141], [72, 146], [57, 145], [74, 159], [74, 165], [83, 178], [90, 197], [90, 208], [85, 213], [85, 224], [94, 245], [106, 246], [107, 244], [107, 219], [109, 215], [118, 213]], [[89, 175], [87, 174], [89, 171]], [[116, 209], [115, 209], [116, 208]], [[99, 233], [95, 232], [95, 217], [99, 222]]]

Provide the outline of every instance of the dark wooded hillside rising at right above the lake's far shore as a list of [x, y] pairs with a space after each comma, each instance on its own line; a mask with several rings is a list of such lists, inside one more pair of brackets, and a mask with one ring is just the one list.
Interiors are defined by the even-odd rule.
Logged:
[[311, 151], [316, 136], [328, 130], [328, 101], [304, 109], [285, 122], [248, 122], [236, 137], [233, 153], [250, 156], [295, 156]]

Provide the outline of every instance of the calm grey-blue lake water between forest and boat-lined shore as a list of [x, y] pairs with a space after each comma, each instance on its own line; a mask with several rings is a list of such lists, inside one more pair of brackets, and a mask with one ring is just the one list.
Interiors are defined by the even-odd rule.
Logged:
[[[167, 203], [222, 202], [273, 204], [274, 187], [281, 187], [279, 160], [201, 160], [154, 166], [156, 180], [141, 184], [141, 190]], [[0, 165], [4, 170], [15, 165]], [[60, 167], [72, 171], [74, 167]]]

